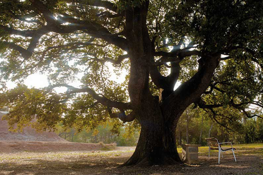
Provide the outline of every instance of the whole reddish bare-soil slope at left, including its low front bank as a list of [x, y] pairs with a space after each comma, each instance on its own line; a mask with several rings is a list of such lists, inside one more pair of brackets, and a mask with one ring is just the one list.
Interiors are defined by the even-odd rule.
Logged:
[[54, 132], [37, 132], [30, 126], [23, 132], [8, 131], [8, 123], [2, 120], [5, 112], [0, 111], [0, 153], [20, 151], [94, 151], [114, 149], [114, 144], [73, 143], [62, 139]]

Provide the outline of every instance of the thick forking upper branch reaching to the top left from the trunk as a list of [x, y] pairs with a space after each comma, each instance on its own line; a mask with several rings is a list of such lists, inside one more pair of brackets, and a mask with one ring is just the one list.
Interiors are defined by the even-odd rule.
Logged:
[[127, 42], [125, 38], [121, 38], [119, 36], [111, 34], [101, 24], [95, 22], [84, 22], [74, 19], [74, 21], [72, 22], [76, 22], [76, 23], [72, 25], [61, 25], [61, 22], [54, 19], [52, 13], [46, 8], [46, 6], [41, 1], [39, 0], [31, 0], [31, 1], [32, 4], [36, 6], [36, 8], [44, 15], [44, 17], [48, 21], [48, 24], [46, 26], [43, 26], [37, 30], [25, 30], [25, 31], [15, 30], [10, 27], [6, 27], [2, 25], [0, 26], [2, 29], [4, 29], [10, 34], [19, 34], [21, 36], [32, 37], [30, 41], [30, 45], [26, 50], [20, 46], [15, 45], [14, 43], [8, 43], [8, 46], [12, 49], [19, 51], [22, 54], [22, 56], [25, 58], [25, 60], [31, 57], [35, 47], [37, 46], [39, 38], [44, 34], [52, 31], [60, 34], [66, 34], [77, 30], [83, 30], [85, 33], [88, 33], [91, 36], [102, 38], [108, 43], [112, 43], [126, 51], [128, 50]]

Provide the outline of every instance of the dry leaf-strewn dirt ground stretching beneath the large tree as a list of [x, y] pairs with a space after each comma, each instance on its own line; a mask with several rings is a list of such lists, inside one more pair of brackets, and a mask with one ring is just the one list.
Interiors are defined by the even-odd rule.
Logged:
[[[11, 144], [11, 143], [6, 143]], [[48, 143], [24, 143], [25, 148], [18, 148], [19, 143], [13, 143], [13, 150], [0, 152], [1, 175], [64, 175], [64, 174], [90, 174], [90, 175], [165, 175], [165, 174], [262, 174], [263, 175], [263, 147], [237, 148], [235, 151], [237, 162], [231, 152], [224, 153], [220, 164], [217, 163], [217, 152], [212, 152], [209, 159], [208, 151], [199, 154], [198, 164], [181, 164], [173, 166], [152, 167], [119, 167], [127, 161], [134, 152], [135, 147], [115, 147], [114, 150], [105, 151], [103, 147], [94, 145], [74, 147], [71, 143], [68, 150], [46, 150], [39, 146], [38, 150], [28, 150], [27, 144], [43, 145]], [[56, 143], [50, 143], [56, 145]], [[62, 143], [59, 143], [62, 144]], [[3, 142], [0, 142], [0, 150]], [[58, 146], [58, 145], [57, 145]], [[61, 145], [60, 145], [61, 146]], [[59, 146], [58, 146], [59, 148]], [[73, 151], [71, 148], [74, 148]], [[206, 148], [203, 148], [206, 150]], [[69, 151], [71, 150], [71, 151]]]

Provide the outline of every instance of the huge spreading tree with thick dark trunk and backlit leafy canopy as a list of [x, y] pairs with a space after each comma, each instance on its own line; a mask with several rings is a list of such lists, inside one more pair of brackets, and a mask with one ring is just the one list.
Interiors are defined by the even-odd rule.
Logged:
[[[39, 127], [62, 121], [79, 131], [107, 116], [115, 128], [133, 121], [140, 138], [124, 165], [180, 162], [174, 132], [190, 104], [226, 127], [238, 125], [228, 111], [261, 117], [248, 107], [263, 104], [262, 8], [253, 0], [3, 0], [6, 119], [22, 127], [37, 114]], [[110, 70], [123, 69], [126, 81], [110, 80]], [[49, 75], [49, 87], [6, 89], [6, 80], [23, 83], [36, 71]], [[69, 84], [77, 79], [79, 87]]]

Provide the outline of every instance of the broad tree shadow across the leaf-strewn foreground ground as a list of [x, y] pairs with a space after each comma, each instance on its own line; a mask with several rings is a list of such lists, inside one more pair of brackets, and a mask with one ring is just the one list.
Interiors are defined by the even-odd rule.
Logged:
[[[263, 174], [263, 150], [238, 151], [237, 162], [233, 160], [232, 153], [225, 153], [218, 164], [218, 153], [212, 152], [211, 158], [207, 155], [199, 157], [199, 164], [181, 164], [173, 166], [152, 167], [118, 167], [130, 155], [116, 156], [77, 156], [62, 157], [61, 160], [42, 160], [41, 158], [24, 159], [16, 162], [0, 163], [2, 175], [62, 175], [62, 174], [90, 174], [90, 175], [166, 175], [166, 174]], [[247, 153], [248, 152], [248, 153]]]

